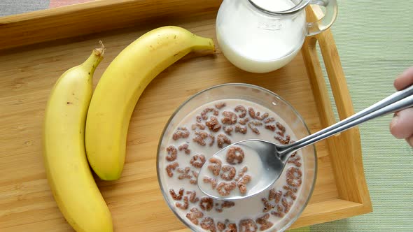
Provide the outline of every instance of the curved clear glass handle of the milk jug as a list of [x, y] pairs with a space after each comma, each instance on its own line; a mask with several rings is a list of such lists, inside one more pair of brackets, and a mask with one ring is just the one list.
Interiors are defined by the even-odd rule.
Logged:
[[331, 27], [337, 18], [337, 0], [311, 0], [311, 5], [325, 7], [325, 15], [316, 22], [307, 22], [307, 36], [314, 36]]

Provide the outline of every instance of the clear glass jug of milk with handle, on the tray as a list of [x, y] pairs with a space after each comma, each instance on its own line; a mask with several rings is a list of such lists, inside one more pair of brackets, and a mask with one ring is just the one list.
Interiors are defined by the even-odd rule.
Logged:
[[[325, 7], [318, 22], [306, 22], [309, 4]], [[252, 73], [288, 64], [304, 38], [328, 29], [337, 17], [336, 0], [224, 0], [216, 18], [216, 36], [224, 56]]]

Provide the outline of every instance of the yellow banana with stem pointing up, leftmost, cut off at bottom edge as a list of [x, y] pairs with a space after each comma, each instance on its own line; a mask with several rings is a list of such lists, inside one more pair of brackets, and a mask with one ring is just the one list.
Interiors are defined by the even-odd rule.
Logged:
[[76, 231], [113, 231], [111, 212], [97, 188], [85, 154], [85, 121], [92, 77], [102, 49], [62, 74], [45, 109], [43, 158], [50, 188]]

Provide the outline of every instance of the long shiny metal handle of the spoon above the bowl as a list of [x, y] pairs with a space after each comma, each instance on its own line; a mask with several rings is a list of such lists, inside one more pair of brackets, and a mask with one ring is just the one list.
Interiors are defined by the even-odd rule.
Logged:
[[286, 159], [288, 154], [295, 152], [296, 150], [306, 147], [313, 143], [323, 140], [330, 136], [335, 135], [336, 133], [345, 131], [357, 126], [363, 122], [367, 122], [376, 117], [387, 115], [388, 113], [394, 113], [398, 110], [409, 108], [413, 106], [413, 85], [407, 87], [406, 89], [395, 92], [391, 96], [386, 97], [374, 105], [361, 110], [360, 112], [343, 119], [340, 122], [332, 124], [331, 126], [317, 131], [309, 136], [306, 136], [300, 140], [297, 140], [295, 143], [290, 145], [285, 145], [280, 147], [278, 152], [282, 159]]

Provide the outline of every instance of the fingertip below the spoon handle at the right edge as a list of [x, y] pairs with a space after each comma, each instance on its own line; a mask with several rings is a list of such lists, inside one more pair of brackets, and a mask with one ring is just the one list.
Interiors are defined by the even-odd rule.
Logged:
[[413, 136], [413, 108], [407, 108], [396, 113], [391, 120], [390, 131], [395, 138]]

